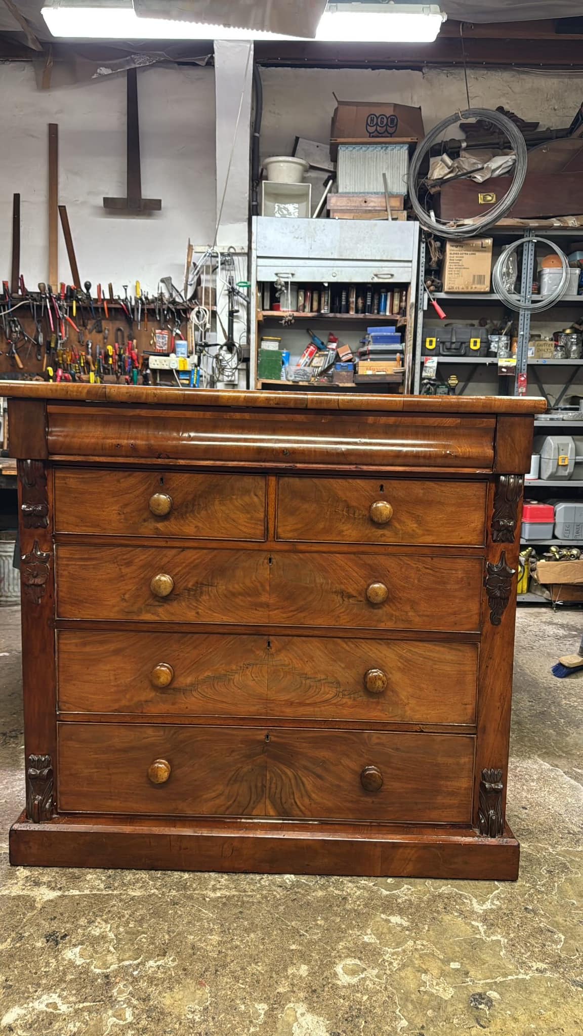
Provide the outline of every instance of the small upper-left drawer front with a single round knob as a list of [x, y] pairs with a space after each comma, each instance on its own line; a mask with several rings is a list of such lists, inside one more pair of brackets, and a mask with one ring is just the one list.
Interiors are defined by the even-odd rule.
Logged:
[[266, 480], [179, 471], [55, 471], [57, 533], [265, 540]]

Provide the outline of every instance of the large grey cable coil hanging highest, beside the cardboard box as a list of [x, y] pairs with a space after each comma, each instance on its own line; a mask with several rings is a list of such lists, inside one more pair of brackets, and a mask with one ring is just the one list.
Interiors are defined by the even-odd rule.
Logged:
[[[417, 180], [423, 160], [432, 145], [439, 140], [445, 130], [462, 121], [462, 119], [487, 119], [502, 131], [510, 142], [510, 146], [517, 156], [515, 173], [512, 182], [504, 197], [493, 205], [492, 208], [489, 208], [488, 212], [484, 212], [483, 215], [477, 215], [472, 220], [444, 222], [431, 217], [423, 208], [418, 197]], [[522, 191], [527, 166], [528, 152], [525, 139], [516, 123], [500, 112], [492, 112], [488, 108], [469, 108], [466, 112], [456, 112], [455, 115], [450, 115], [449, 118], [439, 122], [417, 147], [409, 169], [409, 195], [411, 204], [421, 226], [439, 237], [445, 237], [448, 240], [463, 240], [467, 237], [475, 237], [477, 234], [482, 234], [487, 230], [490, 230], [498, 220], [501, 220], [510, 210]]]

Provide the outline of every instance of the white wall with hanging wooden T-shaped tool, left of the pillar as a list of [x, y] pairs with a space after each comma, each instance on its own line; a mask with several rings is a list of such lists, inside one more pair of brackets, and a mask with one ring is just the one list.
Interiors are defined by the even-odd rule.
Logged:
[[[138, 74], [142, 194], [162, 211], [107, 212], [104, 195], [126, 195], [126, 77], [37, 90], [29, 63], [0, 65], [0, 269], [9, 277], [12, 194], [21, 194], [21, 270], [36, 289], [49, 279], [49, 122], [59, 125], [59, 202], [67, 207], [82, 281], [141, 282], [156, 292], [181, 285], [188, 237], [207, 244], [215, 230], [213, 68], [146, 68]], [[59, 228], [59, 277], [71, 271]]]

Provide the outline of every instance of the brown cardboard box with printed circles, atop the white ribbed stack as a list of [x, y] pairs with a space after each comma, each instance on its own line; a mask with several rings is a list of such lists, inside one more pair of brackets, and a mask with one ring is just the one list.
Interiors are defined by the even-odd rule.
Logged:
[[330, 155], [336, 157], [338, 142], [368, 144], [415, 143], [425, 136], [420, 108], [378, 100], [339, 100], [332, 116]]

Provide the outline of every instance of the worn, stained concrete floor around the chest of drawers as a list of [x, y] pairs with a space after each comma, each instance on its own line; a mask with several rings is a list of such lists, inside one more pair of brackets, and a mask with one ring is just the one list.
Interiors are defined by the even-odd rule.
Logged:
[[581, 1036], [583, 612], [519, 612], [520, 880], [10, 868], [19, 614], [0, 609], [0, 1036]]

